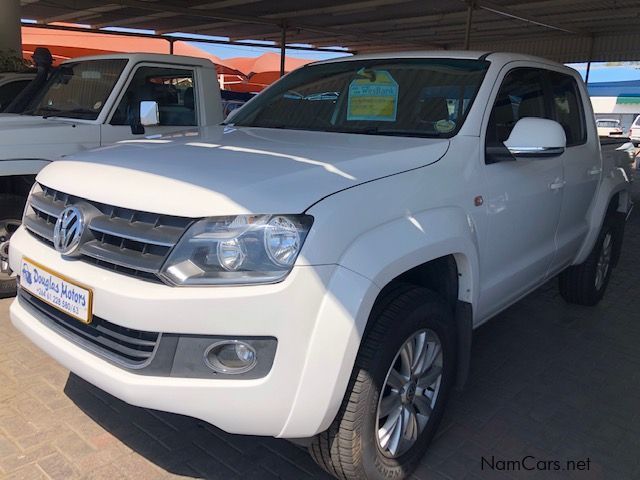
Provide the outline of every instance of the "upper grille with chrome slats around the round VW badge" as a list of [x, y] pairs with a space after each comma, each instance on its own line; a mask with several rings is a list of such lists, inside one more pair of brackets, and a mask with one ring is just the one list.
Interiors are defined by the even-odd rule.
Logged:
[[96, 216], [88, 225], [91, 239], [80, 246], [82, 259], [99, 267], [145, 280], [160, 280], [157, 273], [192, 219], [114, 207], [41, 185], [29, 198], [26, 229], [53, 245], [53, 229], [69, 205], [90, 205]]

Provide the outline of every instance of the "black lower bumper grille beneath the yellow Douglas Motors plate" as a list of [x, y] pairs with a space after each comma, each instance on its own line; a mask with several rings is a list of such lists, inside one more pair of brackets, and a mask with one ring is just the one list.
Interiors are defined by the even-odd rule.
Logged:
[[18, 293], [40, 315], [48, 327], [72, 342], [99, 355], [106, 360], [127, 368], [142, 368], [153, 359], [160, 342], [160, 333], [133, 330], [93, 317], [86, 325], [73, 317], [56, 310], [24, 289]]

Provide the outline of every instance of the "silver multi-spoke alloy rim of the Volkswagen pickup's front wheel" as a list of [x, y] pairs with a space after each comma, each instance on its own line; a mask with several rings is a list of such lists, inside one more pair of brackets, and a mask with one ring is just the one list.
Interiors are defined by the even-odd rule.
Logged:
[[442, 342], [430, 329], [402, 344], [387, 372], [376, 412], [378, 448], [396, 458], [424, 431], [442, 383]]

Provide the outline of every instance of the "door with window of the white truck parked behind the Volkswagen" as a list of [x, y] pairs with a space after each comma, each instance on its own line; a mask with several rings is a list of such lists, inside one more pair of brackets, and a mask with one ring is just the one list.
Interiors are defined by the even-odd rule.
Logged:
[[[109, 121], [102, 126], [102, 145], [197, 127], [199, 122], [196, 92], [195, 72], [192, 68], [139, 66]], [[142, 101], [158, 103], [160, 124], [145, 127], [142, 135], [134, 135], [131, 132], [131, 124], [139, 119]]]

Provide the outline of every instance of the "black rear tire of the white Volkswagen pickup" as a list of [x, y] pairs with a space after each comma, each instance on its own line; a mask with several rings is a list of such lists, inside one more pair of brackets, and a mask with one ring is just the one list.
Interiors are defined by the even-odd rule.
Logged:
[[[559, 276], [560, 295], [566, 302], [594, 306], [602, 300], [620, 254], [623, 235], [624, 219], [620, 218], [620, 214], [616, 212], [609, 212], [587, 259], [580, 265], [567, 268]], [[599, 277], [598, 265], [603, 258], [603, 249], [606, 248], [608, 237], [611, 242], [611, 252], [608, 268], [602, 278], [602, 273]]]

